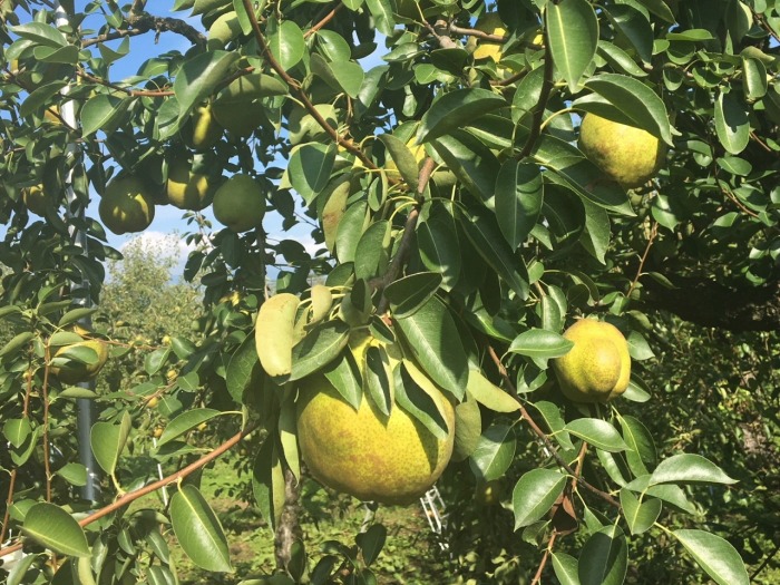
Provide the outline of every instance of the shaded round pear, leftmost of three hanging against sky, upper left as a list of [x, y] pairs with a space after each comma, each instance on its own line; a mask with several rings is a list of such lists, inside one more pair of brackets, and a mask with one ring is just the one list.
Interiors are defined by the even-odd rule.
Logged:
[[143, 181], [125, 176], [106, 186], [98, 213], [106, 227], [121, 235], [146, 230], [155, 217], [155, 204]]

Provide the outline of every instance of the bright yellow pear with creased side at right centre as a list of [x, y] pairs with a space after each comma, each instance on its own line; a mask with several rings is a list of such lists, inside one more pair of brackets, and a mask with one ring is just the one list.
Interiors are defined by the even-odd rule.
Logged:
[[631, 379], [628, 342], [617, 328], [583, 319], [564, 333], [574, 342], [553, 361], [560, 391], [575, 402], [606, 402], [621, 396]]

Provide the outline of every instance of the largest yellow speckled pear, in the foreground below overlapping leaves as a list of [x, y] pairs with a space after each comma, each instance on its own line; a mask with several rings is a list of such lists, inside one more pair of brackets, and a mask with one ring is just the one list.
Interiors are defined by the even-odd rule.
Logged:
[[437, 439], [398, 404], [389, 417], [363, 397], [355, 411], [321, 374], [303, 381], [298, 398], [301, 456], [323, 485], [363, 501], [407, 505], [439, 478], [452, 455], [455, 411], [435, 401], [450, 429]]

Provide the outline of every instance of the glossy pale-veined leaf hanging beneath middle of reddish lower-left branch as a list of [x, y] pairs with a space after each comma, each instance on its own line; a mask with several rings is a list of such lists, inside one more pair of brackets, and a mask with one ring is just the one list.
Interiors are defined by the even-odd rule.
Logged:
[[201, 568], [231, 573], [227, 538], [198, 489], [185, 484], [170, 498], [170, 524], [182, 549]]

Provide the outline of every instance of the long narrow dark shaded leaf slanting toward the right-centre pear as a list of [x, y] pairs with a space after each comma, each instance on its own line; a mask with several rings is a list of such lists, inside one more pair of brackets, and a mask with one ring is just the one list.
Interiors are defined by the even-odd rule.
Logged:
[[523, 259], [516, 255], [500, 235], [493, 214], [468, 217], [461, 215], [460, 225], [475, 250], [521, 300], [528, 298], [528, 271]]

